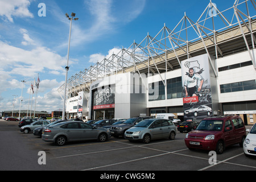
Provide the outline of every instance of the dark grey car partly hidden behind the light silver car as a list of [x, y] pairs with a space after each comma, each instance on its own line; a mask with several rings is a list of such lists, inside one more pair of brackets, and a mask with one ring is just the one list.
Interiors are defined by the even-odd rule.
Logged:
[[125, 137], [125, 131], [133, 127], [134, 125], [137, 125], [139, 122], [141, 122], [144, 119], [149, 119], [151, 117], [133, 117], [127, 119], [125, 122], [112, 126], [110, 128], [110, 133], [114, 137], [119, 137], [122, 136], [123, 138]]

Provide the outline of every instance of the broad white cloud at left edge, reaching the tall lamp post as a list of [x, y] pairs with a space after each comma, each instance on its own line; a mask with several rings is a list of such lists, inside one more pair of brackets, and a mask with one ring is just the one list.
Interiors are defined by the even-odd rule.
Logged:
[[63, 71], [63, 65], [67, 62], [65, 57], [46, 47], [35, 47], [28, 51], [10, 46], [1, 41], [0, 47], [0, 64], [2, 68], [11, 69], [12, 73], [26, 77], [43, 72], [46, 68], [50, 71]]

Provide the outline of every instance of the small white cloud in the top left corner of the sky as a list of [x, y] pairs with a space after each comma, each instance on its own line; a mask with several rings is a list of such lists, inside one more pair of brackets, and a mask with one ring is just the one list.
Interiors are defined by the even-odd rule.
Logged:
[[2, 16], [4, 20], [14, 22], [13, 16], [18, 16], [20, 18], [34, 17], [33, 14], [28, 10], [28, 6], [30, 6], [29, 0], [1, 0], [0, 2], [0, 16]]

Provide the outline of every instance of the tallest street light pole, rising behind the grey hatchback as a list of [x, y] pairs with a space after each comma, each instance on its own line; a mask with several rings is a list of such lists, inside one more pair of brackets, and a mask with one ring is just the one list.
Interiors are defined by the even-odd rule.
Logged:
[[76, 16], [75, 13], [71, 13], [71, 18], [69, 15], [66, 13], [66, 17], [70, 20], [70, 27], [69, 27], [69, 39], [68, 39], [68, 58], [67, 58], [67, 67], [66, 69], [66, 76], [65, 76], [65, 89], [64, 89], [64, 103], [63, 103], [63, 110], [62, 110], [62, 119], [65, 119], [65, 111], [66, 111], [66, 92], [67, 92], [67, 78], [68, 78], [68, 59], [69, 59], [69, 47], [70, 47], [70, 37], [71, 37], [71, 26], [72, 26], [72, 20], [78, 20], [78, 18], [74, 18]]

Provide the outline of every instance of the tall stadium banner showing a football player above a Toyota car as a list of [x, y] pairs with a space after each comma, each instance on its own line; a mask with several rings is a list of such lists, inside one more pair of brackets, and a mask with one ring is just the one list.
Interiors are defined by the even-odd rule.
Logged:
[[209, 59], [207, 54], [181, 61], [184, 121], [212, 115]]

